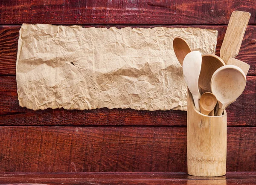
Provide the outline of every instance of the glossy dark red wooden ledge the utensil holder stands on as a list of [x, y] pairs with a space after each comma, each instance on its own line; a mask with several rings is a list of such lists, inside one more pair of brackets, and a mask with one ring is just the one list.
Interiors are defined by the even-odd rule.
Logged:
[[0, 173], [0, 183], [254, 185], [256, 174], [245, 172], [227, 173], [221, 177], [198, 177], [186, 173]]

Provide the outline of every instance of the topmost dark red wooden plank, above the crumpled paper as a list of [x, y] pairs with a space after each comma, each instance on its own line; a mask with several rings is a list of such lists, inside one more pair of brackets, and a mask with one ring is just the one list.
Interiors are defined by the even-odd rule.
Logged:
[[252, 14], [254, 0], [0, 1], [0, 24], [227, 24], [234, 10]]

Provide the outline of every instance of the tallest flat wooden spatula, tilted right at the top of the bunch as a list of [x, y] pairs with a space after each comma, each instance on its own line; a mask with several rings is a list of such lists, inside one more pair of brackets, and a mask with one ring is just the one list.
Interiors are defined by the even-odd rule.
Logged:
[[236, 58], [238, 55], [249, 19], [249, 12], [234, 11], [232, 13], [220, 50], [220, 57], [225, 64], [230, 58]]

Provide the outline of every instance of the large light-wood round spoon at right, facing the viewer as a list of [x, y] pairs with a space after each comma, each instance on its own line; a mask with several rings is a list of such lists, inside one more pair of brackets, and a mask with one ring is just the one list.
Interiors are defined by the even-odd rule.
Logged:
[[242, 69], [234, 65], [226, 65], [217, 69], [212, 75], [212, 93], [218, 100], [217, 116], [221, 116], [223, 110], [236, 101], [243, 93], [246, 85], [246, 76]]

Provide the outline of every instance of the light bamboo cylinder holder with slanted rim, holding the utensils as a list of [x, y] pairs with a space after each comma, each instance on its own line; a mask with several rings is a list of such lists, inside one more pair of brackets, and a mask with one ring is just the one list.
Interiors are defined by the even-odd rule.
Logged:
[[188, 174], [222, 176], [226, 174], [227, 113], [206, 116], [196, 110], [188, 90], [187, 110]]

